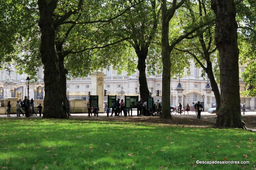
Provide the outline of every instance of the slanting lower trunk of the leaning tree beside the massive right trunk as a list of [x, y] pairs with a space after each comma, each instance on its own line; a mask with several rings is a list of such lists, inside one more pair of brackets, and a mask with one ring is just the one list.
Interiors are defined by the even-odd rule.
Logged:
[[215, 100], [216, 100], [216, 110], [218, 111], [219, 108], [220, 108], [220, 91], [219, 91], [218, 84], [217, 84], [217, 82], [215, 81], [215, 78], [214, 78], [211, 61], [207, 62], [206, 73], [207, 73], [208, 78], [209, 78], [210, 83], [211, 83], [212, 91], [214, 93]]

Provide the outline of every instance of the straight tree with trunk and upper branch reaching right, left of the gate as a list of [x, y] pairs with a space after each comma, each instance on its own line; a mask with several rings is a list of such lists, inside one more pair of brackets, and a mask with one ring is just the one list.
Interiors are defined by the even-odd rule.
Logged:
[[[184, 28], [185, 33], [178, 35], [177, 37], [172, 37], [171, 44], [169, 44], [169, 22], [174, 16], [177, 9], [183, 5], [185, 0], [181, 0], [177, 3], [176, 0], [172, 1], [172, 4], [167, 3], [166, 0], [162, 0], [161, 11], [162, 11], [162, 63], [163, 63], [163, 75], [162, 75], [162, 114], [161, 118], [171, 118], [170, 113], [170, 80], [171, 80], [171, 59], [170, 54], [174, 47], [183, 39], [189, 38], [189, 35], [196, 32], [198, 29], [210, 24], [212, 21], [205, 23], [200, 23], [200, 25], [193, 27], [191, 24], [186, 25]], [[167, 5], [168, 4], [168, 5]]]

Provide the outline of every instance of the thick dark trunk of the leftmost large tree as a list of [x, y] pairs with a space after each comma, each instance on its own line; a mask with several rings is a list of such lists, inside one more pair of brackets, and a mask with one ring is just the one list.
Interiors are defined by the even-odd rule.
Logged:
[[60, 76], [58, 55], [55, 48], [55, 29], [53, 26], [53, 11], [57, 1], [38, 0], [40, 19], [38, 25], [41, 29], [40, 53], [44, 64], [44, 113], [47, 118], [66, 118], [60, 97]]

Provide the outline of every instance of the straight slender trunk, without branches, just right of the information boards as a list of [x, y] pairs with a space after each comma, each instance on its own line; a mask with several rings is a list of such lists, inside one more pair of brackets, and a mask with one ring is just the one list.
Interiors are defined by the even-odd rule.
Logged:
[[170, 81], [171, 81], [171, 60], [169, 49], [169, 21], [167, 20], [166, 1], [162, 2], [162, 62], [163, 62], [163, 74], [162, 74], [162, 114], [161, 118], [172, 118], [170, 112]]

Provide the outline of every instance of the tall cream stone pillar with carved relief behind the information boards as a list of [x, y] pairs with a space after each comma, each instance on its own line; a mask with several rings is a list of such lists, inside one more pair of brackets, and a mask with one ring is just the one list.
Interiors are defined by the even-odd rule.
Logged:
[[91, 95], [99, 96], [100, 113], [104, 113], [103, 98], [104, 98], [104, 77], [105, 76], [106, 74], [104, 74], [100, 70], [95, 71], [91, 74], [91, 81], [92, 81]]

